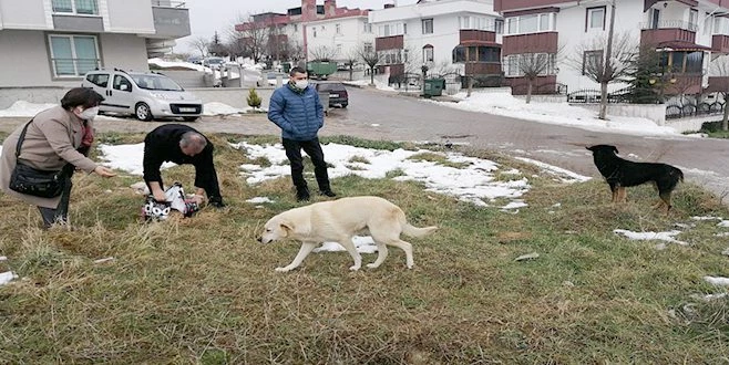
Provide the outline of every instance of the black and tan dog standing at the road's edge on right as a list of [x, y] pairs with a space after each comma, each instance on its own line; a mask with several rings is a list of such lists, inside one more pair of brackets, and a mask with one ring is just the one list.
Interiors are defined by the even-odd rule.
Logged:
[[656, 208], [671, 208], [670, 195], [684, 181], [684, 173], [677, 167], [657, 163], [634, 163], [617, 156], [615, 146], [595, 145], [586, 147], [593, 152], [593, 159], [599, 173], [605, 177], [613, 191], [613, 202], [627, 199], [626, 187], [638, 186], [648, 181], [655, 184], [660, 200]]

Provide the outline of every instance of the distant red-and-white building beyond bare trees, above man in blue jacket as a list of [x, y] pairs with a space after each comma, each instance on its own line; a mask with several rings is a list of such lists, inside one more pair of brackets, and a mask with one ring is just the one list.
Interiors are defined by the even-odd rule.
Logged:
[[[263, 31], [266, 43], [277, 44], [267, 50], [275, 60], [289, 60], [300, 48], [307, 61], [326, 54], [331, 61], [343, 62], [360, 46], [374, 41], [368, 11], [337, 7], [336, 0], [325, 0], [324, 4], [301, 0], [301, 7], [288, 9], [286, 13], [255, 14], [250, 21], [236, 24], [235, 30], [242, 32], [243, 41], [248, 43], [256, 42], [253, 33]], [[279, 48], [285, 51], [277, 53]]]

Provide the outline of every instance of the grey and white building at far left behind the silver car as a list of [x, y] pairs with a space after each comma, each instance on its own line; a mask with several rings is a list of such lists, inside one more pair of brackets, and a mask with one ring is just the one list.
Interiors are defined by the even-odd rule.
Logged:
[[184, 4], [153, 0], [0, 0], [0, 86], [79, 86], [96, 67], [147, 71], [189, 35]]

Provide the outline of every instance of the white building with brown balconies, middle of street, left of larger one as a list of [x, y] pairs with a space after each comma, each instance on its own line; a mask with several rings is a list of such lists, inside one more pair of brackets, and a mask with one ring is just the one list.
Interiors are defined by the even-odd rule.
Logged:
[[420, 0], [370, 12], [380, 71], [397, 81], [405, 74], [501, 74], [503, 20], [492, 0]]

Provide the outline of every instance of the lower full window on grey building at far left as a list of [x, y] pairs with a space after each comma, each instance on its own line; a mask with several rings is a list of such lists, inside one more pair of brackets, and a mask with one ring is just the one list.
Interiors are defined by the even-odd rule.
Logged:
[[93, 35], [49, 35], [51, 63], [57, 77], [83, 76], [101, 65]]

